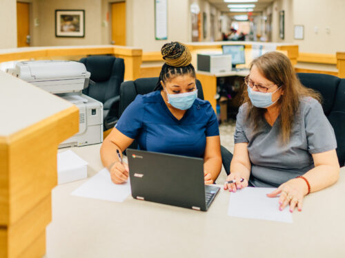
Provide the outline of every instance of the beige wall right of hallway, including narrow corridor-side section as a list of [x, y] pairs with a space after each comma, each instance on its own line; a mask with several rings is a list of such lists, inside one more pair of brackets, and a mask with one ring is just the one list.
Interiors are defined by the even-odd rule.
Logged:
[[[284, 40], [279, 38], [280, 10], [285, 11]], [[335, 54], [345, 51], [344, 0], [276, 0], [264, 15], [270, 13], [273, 42], [297, 43], [299, 52]], [[294, 25], [304, 25], [303, 40], [294, 39]]]

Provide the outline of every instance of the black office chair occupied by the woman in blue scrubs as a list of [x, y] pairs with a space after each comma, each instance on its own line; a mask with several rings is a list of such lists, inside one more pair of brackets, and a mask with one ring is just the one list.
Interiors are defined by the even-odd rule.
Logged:
[[[121, 83], [120, 87], [120, 105], [119, 105], [119, 116], [124, 113], [126, 107], [135, 100], [135, 97], [138, 94], [148, 94], [155, 89], [158, 82], [158, 77], [152, 78], [139, 78], [137, 80], [128, 80], [124, 83]], [[201, 100], [204, 99], [204, 92], [201, 87], [201, 83], [197, 80], [197, 97]], [[130, 149], [137, 149], [137, 142], [133, 142]], [[224, 155], [224, 156], [223, 156]], [[223, 159], [223, 165], [226, 171], [230, 169], [230, 162], [233, 158], [233, 154], [230, 153], [226, 148], [221, 146], [221, 158]], [[228, 166], [228, 169], [226, 168]], [[227, 172], [228, 173], [228, 172]]]

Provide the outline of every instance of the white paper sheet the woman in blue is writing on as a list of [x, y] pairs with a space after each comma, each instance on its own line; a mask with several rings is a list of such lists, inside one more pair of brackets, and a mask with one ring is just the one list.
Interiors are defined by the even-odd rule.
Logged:
[[130, 195], [130, 182], [114, 184], [110, 179], [108, 169], [102, 169], [73, 191], [71, 195], [111, 202], [124, 202]]

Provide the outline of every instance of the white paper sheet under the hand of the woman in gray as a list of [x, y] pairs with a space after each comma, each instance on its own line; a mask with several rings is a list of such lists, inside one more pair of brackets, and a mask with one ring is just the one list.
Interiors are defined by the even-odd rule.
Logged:
[[230, 194], [228, 215], [248, 219], [266, 219], [277, 222], [293, 223], [288, 207], [279, 211], [278, 198], [267, 197], [274, 188], [246, 187]]

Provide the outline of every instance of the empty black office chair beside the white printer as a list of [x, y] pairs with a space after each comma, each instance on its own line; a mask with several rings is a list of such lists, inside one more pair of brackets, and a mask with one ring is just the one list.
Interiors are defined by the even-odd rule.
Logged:
[[89, 85], [83, 94], [103, 103], [103, 131], [114, 127], [119, 119], [119, 91], [124, 81], [124, 59], [114, 56], [88, 56], [80, 61], [91, 73], [95, 85]]

